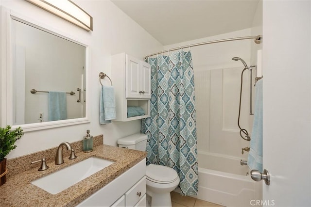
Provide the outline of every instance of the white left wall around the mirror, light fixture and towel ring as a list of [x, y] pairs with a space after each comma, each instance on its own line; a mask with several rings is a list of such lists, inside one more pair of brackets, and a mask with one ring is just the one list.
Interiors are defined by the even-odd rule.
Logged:
[[[113, 122], [109, 125], [99, 124], [98, 74], [104, 72], [112, 80], [118, 79], [110, 75], [112, 54], [126, 52], [142, 60], [146, 54], [162, 50], [163, 46], [108, 0], [74, 0], [74, 2], [93, 17], [93, 32], [86, 32], [25, 0], [0, 1], [0, 4], [6, 8], [44, 22], [62, 33], [74, 35], [83, 42], [88, 42], [91, 55], [88, 76], [91, 122], [26, 132], [22, 139], [17, 141], [17, 148], [8, 155], [8, 159], [55, 147], [63, 141], [79, 141], [86, 134], [86, 129], [89, 129], [94, 136], [104, 134], [104, 143], [110, 145], [117, 145], [116, 141], [120, 137], [140, 131], [140, 120], [127, 123]], [[110, 84], [107, 80], [103, 83]]]

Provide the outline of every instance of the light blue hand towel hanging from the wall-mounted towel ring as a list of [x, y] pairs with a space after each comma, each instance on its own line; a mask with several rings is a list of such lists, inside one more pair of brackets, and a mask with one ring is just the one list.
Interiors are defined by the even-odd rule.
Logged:
[[114, 88], [112, 86], [103, 86], [100, 96], [100, 124], [109, 124], [116, 117]]

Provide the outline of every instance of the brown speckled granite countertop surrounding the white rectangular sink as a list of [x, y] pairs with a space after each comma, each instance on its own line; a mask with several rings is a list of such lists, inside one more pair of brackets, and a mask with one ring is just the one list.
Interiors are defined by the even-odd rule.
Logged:
[[[6, 183], [0, 186], [0, 206], [76, 206], [91, 194], [103, 188], [114, 178], [133, 167], [140, 160], [144, 159], [146, 157], [146, 152], [119, 148], [110, 145], [99, 145], [94, 147], [92, 152], [78, 152], [76, 155], [77, 158], [71, 160], [66, 159], [67, 157], [64, 157], [65, 163], [61, 165], [55, 165], [54, 160], [52, 162], [48, 162], [47, 165], [50, 168], [46, 171], [38, 171], [37, 168], [35, 168], [9, 177]], [[115, 162], [103, 170], [87, 177], [86, 179], [55, 195], [44, 191], [30, 183], [39, 177], [51, 174], [52, 172], [90, 157], [98, 157]]]

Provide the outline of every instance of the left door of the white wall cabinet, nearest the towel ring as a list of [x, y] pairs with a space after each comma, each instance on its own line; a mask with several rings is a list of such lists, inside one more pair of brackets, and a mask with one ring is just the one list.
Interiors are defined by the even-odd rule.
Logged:
[[125, 97], [140, 98], [140, 61], [126, 55], [125, 65]]

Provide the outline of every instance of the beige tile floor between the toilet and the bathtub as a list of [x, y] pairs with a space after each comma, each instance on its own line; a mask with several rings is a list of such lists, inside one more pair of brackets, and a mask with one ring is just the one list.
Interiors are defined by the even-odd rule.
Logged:
[[223, 207], [190, 196], [182, 196], [177, 192], [171, 192], [172, 207]]

